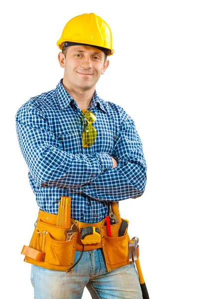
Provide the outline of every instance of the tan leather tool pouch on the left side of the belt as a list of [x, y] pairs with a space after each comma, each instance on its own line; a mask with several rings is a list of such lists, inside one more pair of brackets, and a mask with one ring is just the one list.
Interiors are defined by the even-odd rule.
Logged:
[[66, 241], [66, 228], [58, 227], [56, 221], [57, 215], [39, 211], [29, 247], [23, 246], [21, 252], [25, 262], [58, 271], [74, 264], [77, 236]]

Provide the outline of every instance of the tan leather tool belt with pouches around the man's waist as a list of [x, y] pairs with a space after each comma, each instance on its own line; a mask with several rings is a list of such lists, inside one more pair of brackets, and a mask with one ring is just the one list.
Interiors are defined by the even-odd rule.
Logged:
[[[98, 223], [83, 223], [71, 218], [78, 227], [78, 232], [70, 241], [66, 241], [66, 228], [59, 227], [57, 215], [39, 210], [35, 229], [29, 246], [23, 246], [21, 254], [25, 255], [26, 263], [57, 271], [68, 271], [74, 264], [75, 253], [83, 251], [83, 244], [80, 238], [80, 229], [88, 226], [99, 228], [101, 242], [84, 245], [84, 251], [102, 248], [107, 271], [110, 272], [121, 266], [128, 265], [128, 233], [118, 237], [122, 219], [111, 225], [111, 237], [107, 236], [105, 219]], [[69, 272], [72, 273], [73, 269]]]

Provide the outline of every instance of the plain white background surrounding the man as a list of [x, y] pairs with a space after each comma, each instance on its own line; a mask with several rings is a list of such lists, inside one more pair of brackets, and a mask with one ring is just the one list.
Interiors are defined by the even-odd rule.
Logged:
[[20, 252], [38, 207], [15, 114], [63, 78], [56, 42], [69, 19], [90, 12], [109, 24], [115, 49], [97, 92], [133, 118], [148, 165], [145, 193], [120, 202], [120, 213], [130, 220], [130, 237], [139, 237], [150, 299], [198, 298], [199, 5], [192, 0], [1, 4], [0, 298], [33, 299], [30, 265]]

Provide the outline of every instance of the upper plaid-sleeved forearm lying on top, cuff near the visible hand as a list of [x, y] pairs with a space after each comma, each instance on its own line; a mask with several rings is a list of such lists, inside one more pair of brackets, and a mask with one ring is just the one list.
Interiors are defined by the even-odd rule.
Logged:
[[[50, 158], [50, 163], [47, 159]], [[43, 163], [43, 161], [45, 161]], [[41, 187], [77, 187], [88, 184], [103, 171], [111, 167], [110, 156], [105, 153], [71, 154], [59, 150], [47, 152], [46, 159], [38, 160], [35, 168], [41, 169], [40, 165], [46, 165], [40, 172], [39, 183]], [[35, 172], [36, 170], [35, 169]], [[37, 171], [38, 172], [38, 171]], [[38, 176], [38, 177], [39, 177]]]

